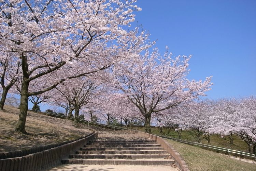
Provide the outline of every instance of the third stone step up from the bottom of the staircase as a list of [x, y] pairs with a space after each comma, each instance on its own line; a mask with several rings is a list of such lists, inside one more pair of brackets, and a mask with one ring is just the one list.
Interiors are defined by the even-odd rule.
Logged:
[[77, 151], [76, 154], [166, 154], [165, 150]]

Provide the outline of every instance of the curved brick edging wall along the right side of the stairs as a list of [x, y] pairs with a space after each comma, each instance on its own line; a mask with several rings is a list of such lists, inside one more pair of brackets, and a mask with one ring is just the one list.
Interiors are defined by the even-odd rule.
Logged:
[[171, 154], [172, 158], [175, 160], [175, 165], [181, 171], [189, 171], [187, 163], [185, 162], [183, 157], [174, 149], [174, 147], [170, 143], [168, 143], [167, 141], [165, 141], [161, 137], [158, 137], [158, 136], [153, 135], [153, 134], [148, 134], [148, 133], [143, 133], [143, 132], [133, 131], [133, 130], [122, 130], [122, 131], [124, 131], [124, 132], [133, 132], [135, 134], [140, 134], [140, 135], [143, 135], [143, 136], [147, 136], [147, 137], [150, 137], [153, 140], [156, 140], [156, 142], [158, 142], [163, 147], [163, 149], [165, 149], [168, 153]]

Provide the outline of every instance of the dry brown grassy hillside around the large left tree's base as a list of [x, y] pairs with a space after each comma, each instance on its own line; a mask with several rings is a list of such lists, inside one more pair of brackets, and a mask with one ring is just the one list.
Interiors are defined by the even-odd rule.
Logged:
[[4, 106], [0, 111], [0, 152], [12, 152], [30, 149], [48, 144], [73, 140], [91, 133], [85, 126], [73, 126], [72, 121], [53, 118], [28, 111], [26, 131], [32, 135], [16, 133], [19, 109]]

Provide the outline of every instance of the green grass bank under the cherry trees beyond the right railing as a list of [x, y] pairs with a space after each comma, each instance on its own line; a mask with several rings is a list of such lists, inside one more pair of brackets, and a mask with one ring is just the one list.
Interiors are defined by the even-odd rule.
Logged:
[[[141, 127], [138, 131], [144, 132], [144, 128]], [[159, 133], [159, 129], [157, 127], [152, 127], [151, 131], [152, 131], [152, 134], [161, 135]], [[171, 130], [169, 134], [167, 134], [167, 133], [168, 133], [168, 129], [164, 128], [163, 129], [163, 135], [164, 136], [179, 138], [178, 133], [174, 130]], [[193, 137], [193, 133], [191, 133], [190, 131], [186, 131], [186, 130], [182, 131], [181, 138], [183, 140], [197, 142], [197, 138]], [[219, 135], [211, 135], [211, 138], [210, 138], [211, 139], [211, 145], [248, 153], [247, 144], [240, 137], [238, 137], [236, 135], [233, 135], [233, 138], [234, 138], [234, 141], [233, 141], [234, 144], [231, 145], [229, 142], [226, 142]], [[208, 144], [208, 141], [206, 139], [204, 139], [203, 136], [202, 136], [201, 137], [201, 143]]]

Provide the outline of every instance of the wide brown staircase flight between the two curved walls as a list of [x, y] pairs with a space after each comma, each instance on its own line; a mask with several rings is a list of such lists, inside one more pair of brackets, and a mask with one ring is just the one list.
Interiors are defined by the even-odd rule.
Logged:
[[62, 160], [84, 165], [172, 165], [174, 160], [156, 141], [122, 131], [99, 132], [88, 144]]

